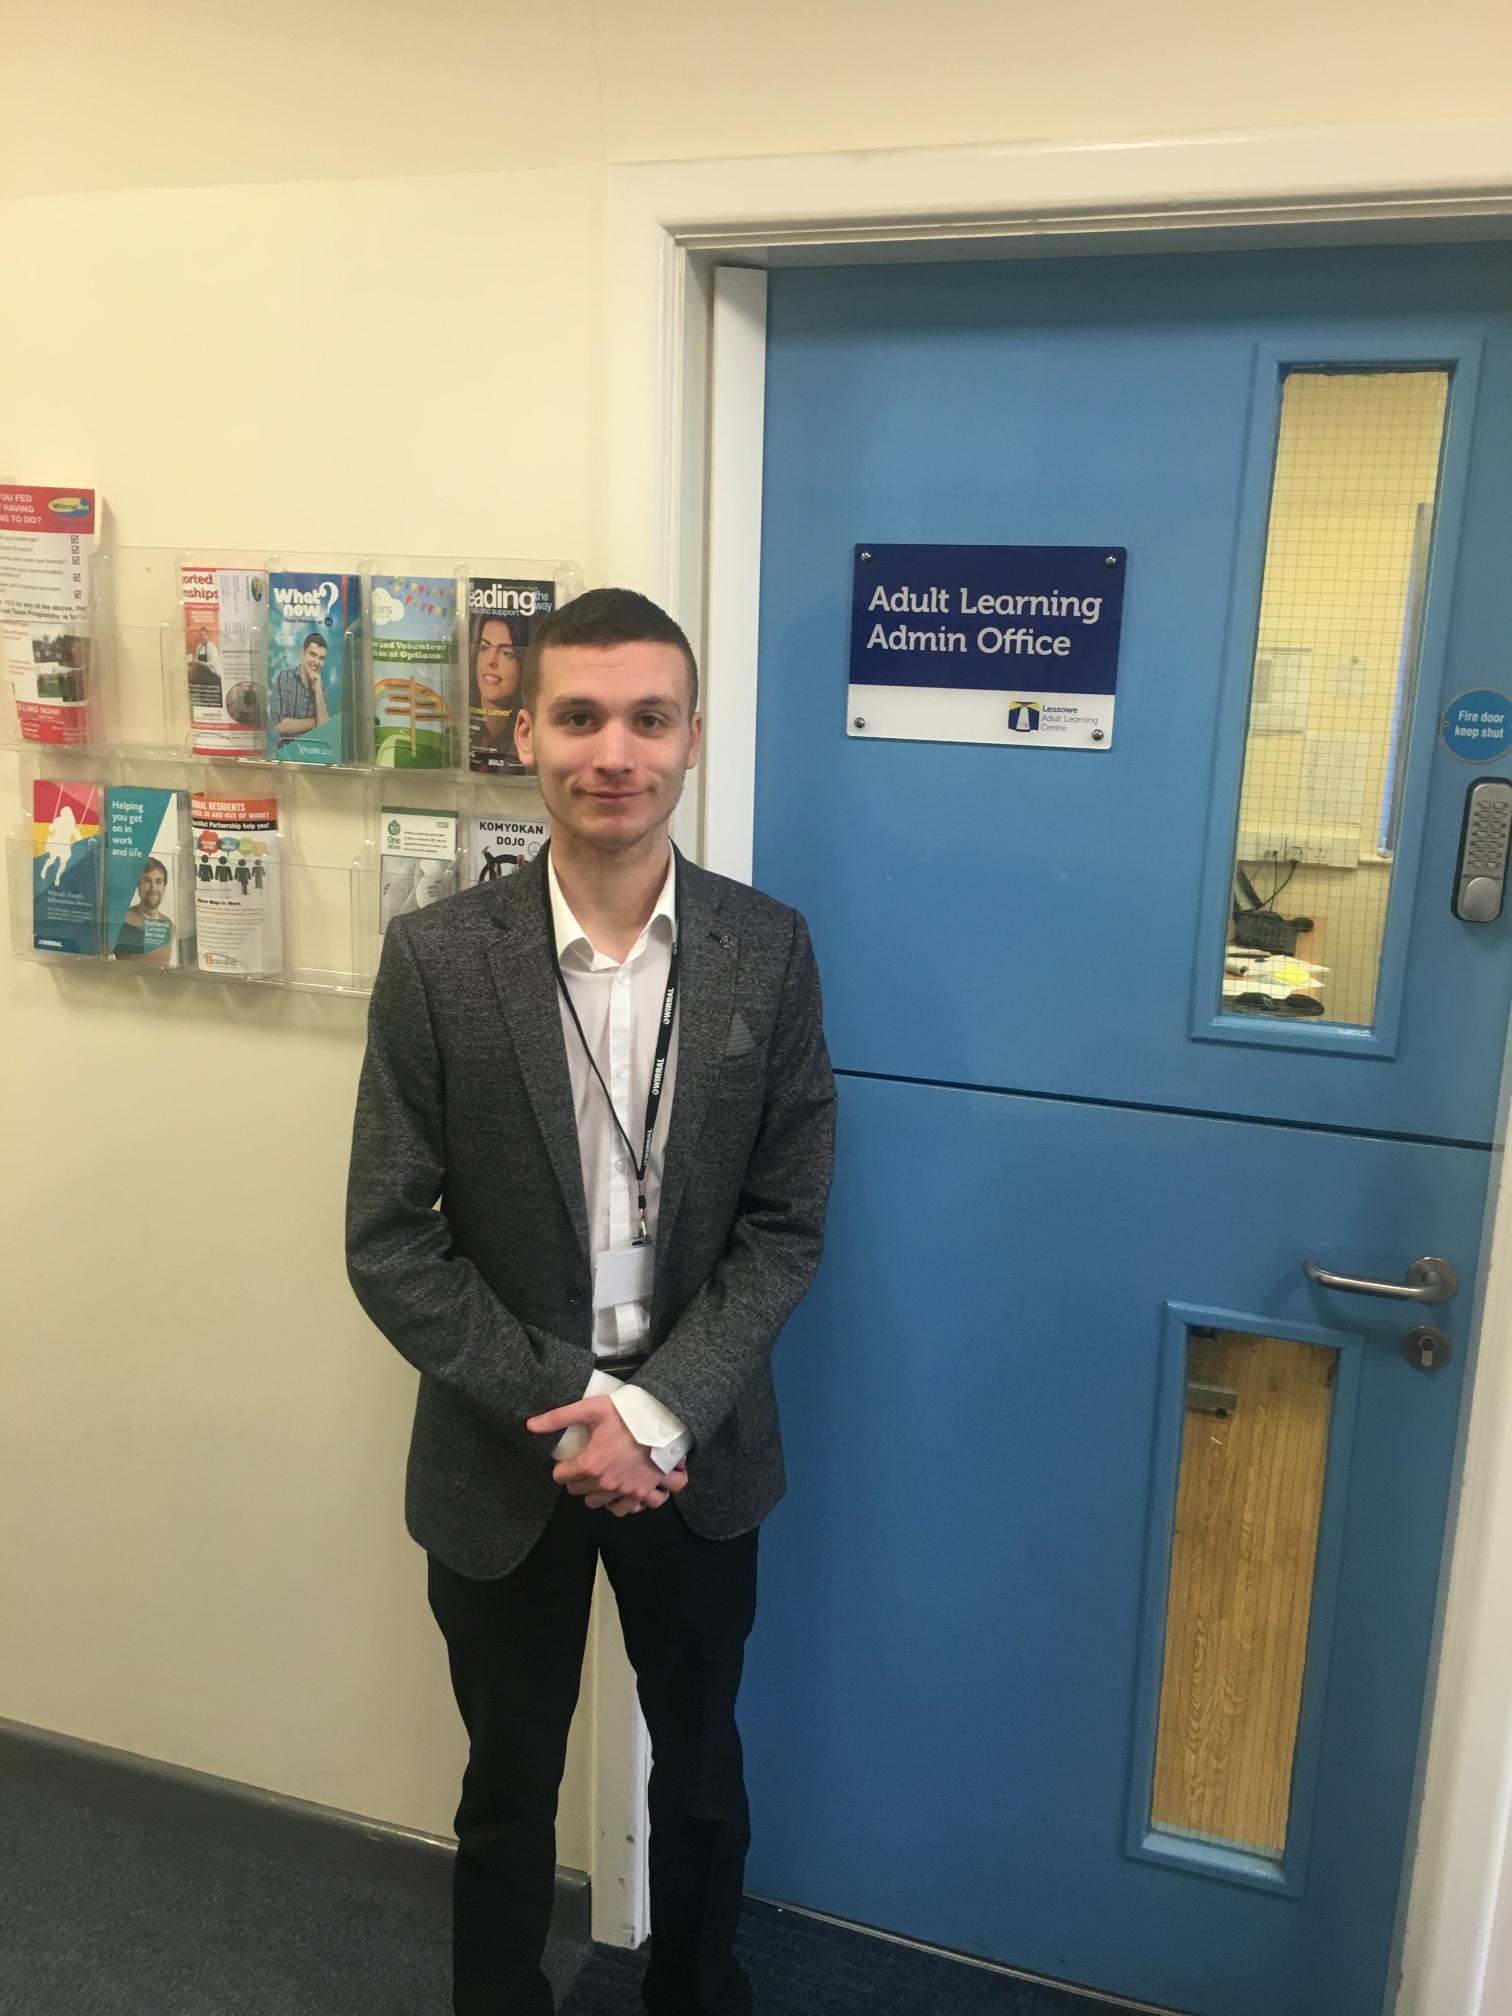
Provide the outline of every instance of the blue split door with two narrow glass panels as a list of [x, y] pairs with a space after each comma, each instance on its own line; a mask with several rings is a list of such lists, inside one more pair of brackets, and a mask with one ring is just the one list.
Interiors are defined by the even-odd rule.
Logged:
[[[1462, 915], [1512, 260], [778, 272], [766, 401], [756, 881], [812, 925], [841, 1163], [752, 1889], [1379, 2016], [1512, 998]], [[1107, 746], [1018, 691], [996, 740], [937, 691], [875, 734], [853, 577], [899, 544], [1127, 552]], [[1347, 1286], [1417, 1260], [1435, 1300]]]

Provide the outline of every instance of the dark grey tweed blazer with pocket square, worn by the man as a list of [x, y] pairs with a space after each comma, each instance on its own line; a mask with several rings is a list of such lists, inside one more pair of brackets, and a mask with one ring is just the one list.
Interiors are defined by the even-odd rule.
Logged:
[[[770, 1353], [818, 1266], [835, 1081], [802, 917], [677, 857], [681, 980], [651, 1357], [694, 1433], [675, 1504], [714, 1540], [784, 1490]], [[395, 917], [367, 1022], [347, 1272], [419, 1369], [405, 1518], [508, 1574], [558, 1500], [524, 1421], [593, 1371], [589, 1222], [556, 1006], [546, 861]]]

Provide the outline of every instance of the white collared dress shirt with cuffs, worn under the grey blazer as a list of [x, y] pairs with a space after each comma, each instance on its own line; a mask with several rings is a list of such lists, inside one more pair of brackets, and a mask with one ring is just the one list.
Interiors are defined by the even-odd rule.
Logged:
[[[573, 996], [573, 1008], [577, 1008], [577, 1018], [583, 1024], [583, 1034], [579, 1036], [558, 988], [556, 1006], [562, 1018], [566, 1070], [573, 1081], [577, 1145], [583, 1157], [583, 1195], [589, 1206], [591, 1266], [597, 1266], [601, 1252], [629, 1246], [639, 1232], [635, 1161], [609, 1117], [605, 1087], [613, 1095], [625, 1139], [633, 1141], [639, 1153], [645, 1137], [645, 1095], [651, 1083], [661, 1004], [667, 994], [671, 937], [677, 927], [675, 873], [677, 863], [673, 857], [667, 863], [667, 879], [661, 885], [661, 895], [645, 929], [617, 966], [591, 946], [587, 931], [566, 905], [562, 885], [556, 881], [556, 863], [546, 853], [556, 958], [566, 990]], [[585, 1038], [593, 1052], [593, 1062], [603, 1073], [603, 1085], [585, 1054]], [[671, 1113], [675, 1081], [677, 1018], [673, 1016], [667, 1068], [661, 1081], [661, 1107], [657, 1109], [651, 1161], [645, 1171], [645, 1236], [653, 1244], [657, 1204], [661, 1202], [661, 1153], [667, 1139], [667, 1115]], [[651, 1308], [647, 1302], [617, 1302], [613, 1308], [597, 1308], [593, 1312], [595, 1357], [615, 1359], [627, 1351], [641, 1351], [649, 1335]], [[651, 1462], [659, 1470], [675, 1470], [691, 1450], [694, 1437], [677, 1415], [669, 1407], [663, 1407], [653, 1393], [629, 1387], [623, 1379], [615, 1379], [613, 1373], [595, 1371], [583, 1397], [593, 1399], [597, 1393], [613, 1395], [625, 1427], [649, 1450]], [[560, 1462], [566, 1456], [577, 1456], [587, 1439], [587, 1429], [569, 1427], [552, 1450], [552, 1458]]]

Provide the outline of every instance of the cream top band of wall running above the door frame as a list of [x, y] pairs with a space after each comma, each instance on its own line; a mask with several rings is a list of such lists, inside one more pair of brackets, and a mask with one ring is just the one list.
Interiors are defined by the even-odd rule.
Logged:
[[[0, 194], [1506, 111], [1502, 0], [8, 0]], [[67, 32], [58, 22], [67, 18]]]

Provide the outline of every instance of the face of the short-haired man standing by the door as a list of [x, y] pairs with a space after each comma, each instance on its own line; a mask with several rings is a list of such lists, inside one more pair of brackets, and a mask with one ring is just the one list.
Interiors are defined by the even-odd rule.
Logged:
[[665, 827], [702, 734], [671, 643], [546, 645], [536, 712], [516, 722], [552, 825], [605, 853]]

